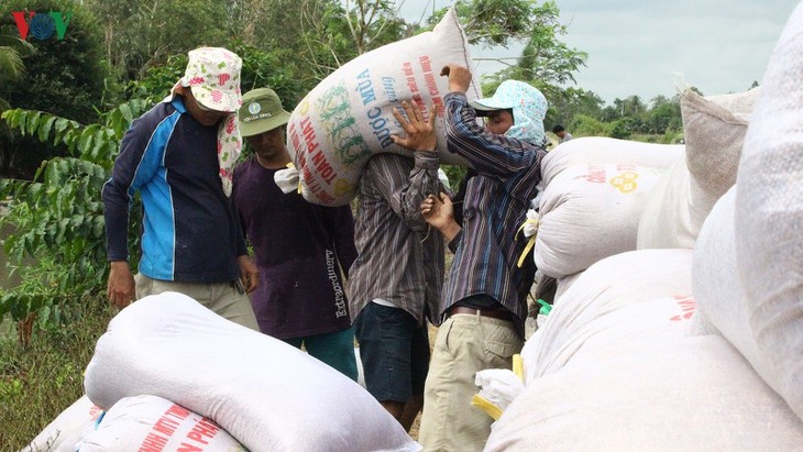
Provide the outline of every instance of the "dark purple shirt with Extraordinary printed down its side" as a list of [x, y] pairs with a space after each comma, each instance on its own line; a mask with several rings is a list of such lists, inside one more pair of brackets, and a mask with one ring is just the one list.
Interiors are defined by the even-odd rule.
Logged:
[[278, 339], [349, 328], [340, 268], [348, 274], [356, 256], [351, 208], [285, 195], [275, 173], [252, 157], [234, 170], [231, 196], [260, 268], [251, 294], [260, 328]]

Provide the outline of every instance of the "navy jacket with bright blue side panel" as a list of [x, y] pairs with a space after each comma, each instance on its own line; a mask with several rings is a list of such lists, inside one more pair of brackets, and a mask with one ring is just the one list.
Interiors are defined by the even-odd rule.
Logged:
[[240, 276], [248, 254], [220, 181], [217, 126], [186, 111], [180, 97], [131, 124], [103, 186], [109, 261], [128, 260], [128, 224], [136, 191], [144, 206], [140, 273], [153, 279], [222, 283]]

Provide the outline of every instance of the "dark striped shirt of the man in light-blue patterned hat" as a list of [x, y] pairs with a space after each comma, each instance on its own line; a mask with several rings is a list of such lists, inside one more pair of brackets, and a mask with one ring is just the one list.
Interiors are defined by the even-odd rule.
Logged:
[[450, 243], [455, 254], [440, 312], [465, 297], [484, 294], [510, 310], [522, 332], [536, 266], [532, 258], [516, 266], [527, 244], [517, 231], [538, 192], [546, 151], [487, 132], [477, 124], [463, 93], [450, 92], [444, 103], [449, 151], [465, 157], [479, 175], [469, 181], [462, 232]]

